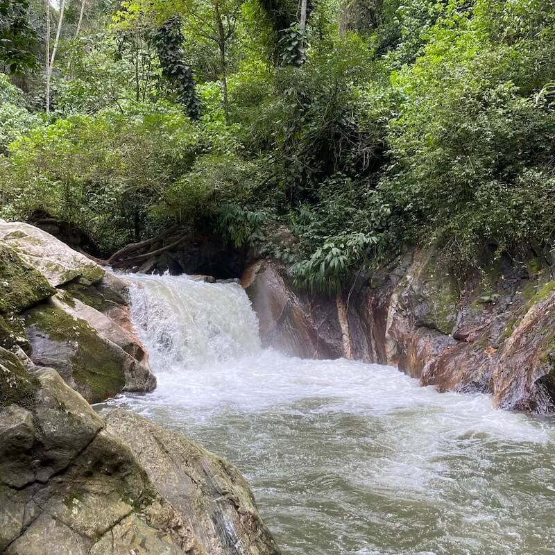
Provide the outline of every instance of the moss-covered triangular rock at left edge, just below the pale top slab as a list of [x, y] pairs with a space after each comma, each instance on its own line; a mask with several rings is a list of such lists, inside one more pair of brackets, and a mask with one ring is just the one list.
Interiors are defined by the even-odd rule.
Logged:
[[56, 293], [44, 276], [0, 244], [0, 311], [21, 311]]

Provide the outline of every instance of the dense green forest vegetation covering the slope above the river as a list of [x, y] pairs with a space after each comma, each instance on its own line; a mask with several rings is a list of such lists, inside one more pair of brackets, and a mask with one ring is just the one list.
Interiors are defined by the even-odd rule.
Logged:
[[180, 223], [327, 290], [554, 248], [555, 0], [0, 1], [0, 35], [5, 218], [102, 255]]

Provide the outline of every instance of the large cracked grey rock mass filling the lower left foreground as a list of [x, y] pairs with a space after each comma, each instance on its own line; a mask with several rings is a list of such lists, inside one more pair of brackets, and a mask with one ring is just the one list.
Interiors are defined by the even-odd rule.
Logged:
[[278, 555], [237, 470], [27, 366], [0, 348], [0, 553]]

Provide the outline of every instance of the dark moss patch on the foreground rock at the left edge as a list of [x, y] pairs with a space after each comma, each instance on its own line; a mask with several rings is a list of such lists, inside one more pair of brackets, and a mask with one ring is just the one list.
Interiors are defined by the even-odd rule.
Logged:
[[37, 379], [25, 370], [18, 358], [0, 348], [0, 407], [19, 404], [25, 409], [33, 409], [35, 391], [39, 387]]

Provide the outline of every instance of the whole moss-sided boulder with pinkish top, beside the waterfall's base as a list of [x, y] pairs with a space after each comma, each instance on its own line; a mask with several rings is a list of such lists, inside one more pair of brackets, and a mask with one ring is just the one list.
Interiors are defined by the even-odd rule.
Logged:
[[126, 330], [79, 300], [60, 294], [26, 312], [25, 323], [33, 362], [58, 370], [87, 401], [155, 388], [156, 379], [142, 362], [142, 347]]

